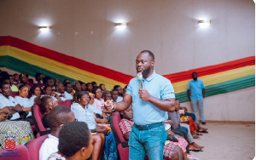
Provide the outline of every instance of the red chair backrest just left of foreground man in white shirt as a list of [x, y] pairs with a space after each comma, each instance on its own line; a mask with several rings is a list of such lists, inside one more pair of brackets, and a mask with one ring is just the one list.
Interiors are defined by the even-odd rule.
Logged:
[[42, 123], [43, 112], [40, 110], [37, 104], [32, 106], [32, 119], [35, 123], [37, 132], [40, 135], [49, 134], [49, 131], [44, 128], [44, 124]]

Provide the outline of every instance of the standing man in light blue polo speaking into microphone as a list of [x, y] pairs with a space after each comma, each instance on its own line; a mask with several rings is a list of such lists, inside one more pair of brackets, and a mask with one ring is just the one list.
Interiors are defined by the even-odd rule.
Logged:
[[125, 111], [133, 107], [134, 125], [129, 138], [129, 159], [163, 159], [166, 130], [162, 122], [168, 116], [166, 111], [175, 110], [175, 94], [172, 83], [154, 72], [154, 54], [143, 50], [137, 55], [137, 72], [143, 74], [143, 89], [138, 78], [131, 79], [124, 99], [119, 103], [107, 101], [105, 106], [115, 111]]

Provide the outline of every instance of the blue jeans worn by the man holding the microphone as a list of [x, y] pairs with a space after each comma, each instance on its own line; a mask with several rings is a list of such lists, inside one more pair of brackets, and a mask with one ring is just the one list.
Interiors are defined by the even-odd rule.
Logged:
[[146, 153], [149, 160], [163, 159], [166, 139], [167, 132], [164, 124], [148, 130], [139, 130], [133, 125], [128, 142], [129, 159], [143, 160]]

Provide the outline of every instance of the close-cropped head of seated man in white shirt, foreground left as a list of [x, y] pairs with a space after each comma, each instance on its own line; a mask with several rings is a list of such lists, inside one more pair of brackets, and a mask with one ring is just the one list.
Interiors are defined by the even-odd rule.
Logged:
[[67, 106], [55, 106], [49, 111], [49, 117], [47, 117], [47, 123], [51, 133], [59, 131], [66, 123], [73, 121], [76, 121], [76, 117], [73, 111]]

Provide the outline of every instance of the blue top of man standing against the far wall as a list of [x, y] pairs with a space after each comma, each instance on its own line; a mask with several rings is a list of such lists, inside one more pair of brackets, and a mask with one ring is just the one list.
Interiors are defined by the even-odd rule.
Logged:
[[202, 89], [205, 89], [205, 84], [197, 78], [196, 81], [189, 81], [188, 89], [191, 91], [190, 99], [192, 100], [201, 100], [203, 98]]

